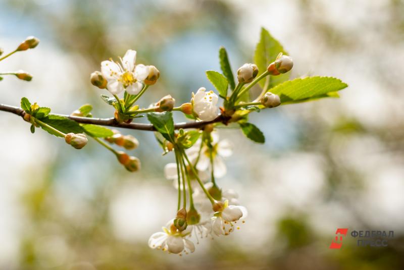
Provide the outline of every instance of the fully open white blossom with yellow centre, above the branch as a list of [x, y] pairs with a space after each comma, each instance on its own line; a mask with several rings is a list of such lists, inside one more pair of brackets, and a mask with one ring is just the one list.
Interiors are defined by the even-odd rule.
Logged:
[[101, 73], [107, 79], [107, 89], [112, 94], [119, 94], [126, 90], [135, 95], [142, 89], [142, 82], [148, 75], [148, 67], [142, 64], [135, 65], [136, 51], [127, 50], [125, 56], [120, 58], [121, 63], [103, 61]]

